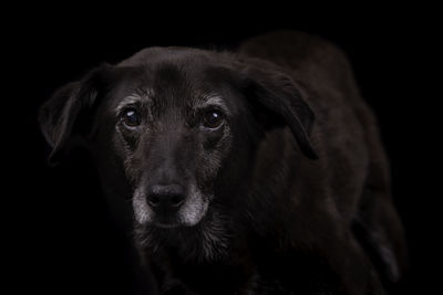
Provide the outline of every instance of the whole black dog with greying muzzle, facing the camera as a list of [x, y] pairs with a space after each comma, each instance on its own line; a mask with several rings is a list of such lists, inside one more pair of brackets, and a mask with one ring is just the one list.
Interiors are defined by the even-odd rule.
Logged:
[[163, 294], [384, 294], [403, 272], [374, 118], [322, 40], [146, 49], [59, 89], [40, 122], [52, 161], [90, 150]]

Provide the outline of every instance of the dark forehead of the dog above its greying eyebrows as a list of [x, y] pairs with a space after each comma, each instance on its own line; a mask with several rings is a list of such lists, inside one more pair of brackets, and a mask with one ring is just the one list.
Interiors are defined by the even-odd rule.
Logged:
[[177, 48], [143, 50], [117, 65], [136, 69], [122, 80], [126, 94], [195, 105], [223, 101], [223, 81], [208, 75], [216, 66], [216, 59], [205, 51]]

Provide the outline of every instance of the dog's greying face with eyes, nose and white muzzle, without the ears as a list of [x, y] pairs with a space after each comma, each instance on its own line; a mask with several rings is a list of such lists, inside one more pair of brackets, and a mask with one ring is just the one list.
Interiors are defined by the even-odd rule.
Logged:
[[[140, 224], [193, 226], [216, 196], [233, 141], [238, 143], [236, 152], [245, 154], [238, 148], [248, 145], [246, 133], [254, 120], [245, 119], [251, 114], [241, 95], [216, 70], [209, 73], [187, 60], [157, 57], [148, 64], [119, 74], [99, 110], [99, 133], [109, 137], [100, 138], [97, 147], [113, 147], [116, 166], [131, 182]], [[100, 165], [110, 169], [107, 161]]]

